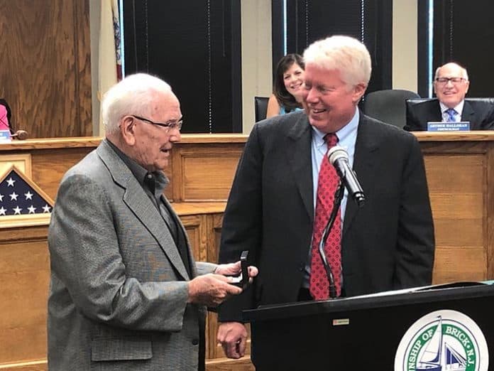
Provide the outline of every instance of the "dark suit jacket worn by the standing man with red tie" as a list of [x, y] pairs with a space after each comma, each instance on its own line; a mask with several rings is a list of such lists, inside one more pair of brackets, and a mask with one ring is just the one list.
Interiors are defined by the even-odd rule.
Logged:
[[[259, 268], [251, 289], [220, 308], [297, 301], [314, 219], [312, 127], [304, 112], [259, 122], [243, 152], [224, 214], [220, 262], [249, 250]], [[366, 204], [348, 200], [342, 262], [347, 296], [431, 284], [434, 227], [415, 136], [361, 114], [353, 168]]]

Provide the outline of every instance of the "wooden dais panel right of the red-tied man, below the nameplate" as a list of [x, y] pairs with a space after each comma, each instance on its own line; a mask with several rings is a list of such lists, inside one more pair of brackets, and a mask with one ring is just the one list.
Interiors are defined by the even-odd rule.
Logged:
[[488, 141], [423, 141], [436, 235], [433, 282], [479, 281], [488, 271]]

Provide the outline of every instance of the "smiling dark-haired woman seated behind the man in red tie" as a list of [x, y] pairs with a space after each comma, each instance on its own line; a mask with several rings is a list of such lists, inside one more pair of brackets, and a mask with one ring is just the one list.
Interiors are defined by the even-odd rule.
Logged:
[[276, 66], [273, 95], [268, 101], [266, 117], [302, 109], [304, 88], [304, 61], [298, 54], [287, 54]]

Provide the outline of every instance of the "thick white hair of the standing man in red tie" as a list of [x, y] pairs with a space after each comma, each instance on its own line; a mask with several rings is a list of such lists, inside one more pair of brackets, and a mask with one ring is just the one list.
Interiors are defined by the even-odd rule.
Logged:
[[331, 36], [315, 41], [304, 51], [304, 62], [324, 70], [338, 70], [348, 85], [368, 85], [372, 65], [370, 54], [356, 38]]

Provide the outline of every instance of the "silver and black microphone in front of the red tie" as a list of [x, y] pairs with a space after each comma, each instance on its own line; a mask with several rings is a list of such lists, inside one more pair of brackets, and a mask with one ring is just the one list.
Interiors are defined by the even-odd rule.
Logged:
[[336, 172], [341, 180], [345, 183], [348, 195], [351, 195], [351, 198], [353, 198], [358, 207], [361, 208], [366, 202], [366, 195], [363, 194], [362, 187], [360, 183], [358, 183], [355, 171], [352, 170], [350, 163], [348, 163], [348, 153], [342, 147], [334, 146], [329, 149], [328, 158], [329, 162], [336, 168]]

